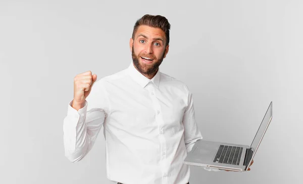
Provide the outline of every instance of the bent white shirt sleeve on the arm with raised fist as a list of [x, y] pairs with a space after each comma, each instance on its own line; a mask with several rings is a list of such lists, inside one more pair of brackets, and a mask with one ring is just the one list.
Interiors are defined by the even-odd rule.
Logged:
[[65, 156], [71, 162], [82, 160], [91, 150], [107, 117], [108, 100], [102, 85], [95, 82], [85, 105], [78, 111], [68, 104], [63, 121]]

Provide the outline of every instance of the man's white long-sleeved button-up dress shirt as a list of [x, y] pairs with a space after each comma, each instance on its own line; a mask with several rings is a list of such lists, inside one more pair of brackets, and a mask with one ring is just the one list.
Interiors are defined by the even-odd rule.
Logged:
[[133, 66], [96, 81], [78, 111], [68, 105], [64, 118], [65, 155], [80, 161], [104, 126], [107, 177], [112, 181], [185, 184], [183, 161], [198, 130], [192, 93], [159, 70], [148, 79]]

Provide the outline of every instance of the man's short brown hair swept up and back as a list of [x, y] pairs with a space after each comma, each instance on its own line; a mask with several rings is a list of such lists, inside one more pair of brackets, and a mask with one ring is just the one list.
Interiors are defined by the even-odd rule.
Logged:
[[161, 16], [161, 15], [144, 15], [140, 19], [137, 20], [137, 22], [134, 25], [133, 33], [132, 33], [132, 39], [135, 39], [135, 34], [138, 30], [138, 27], [140, 25], [146, 25], [154, 28], [160, 28], [162, 31], [165, 32], [165, 37], [166, 37], [166, 44], [167, 46], [169, 44], [169, 30], [170, 30], [170, 23], [168, 20]]

